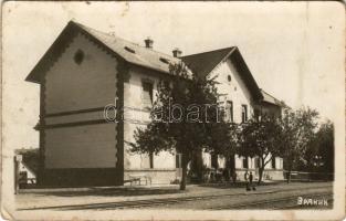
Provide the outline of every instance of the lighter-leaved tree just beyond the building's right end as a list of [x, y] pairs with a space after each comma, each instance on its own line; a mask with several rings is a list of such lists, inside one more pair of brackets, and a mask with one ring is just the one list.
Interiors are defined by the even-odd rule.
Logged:
[[284, 109], [281, 117], [281, 145], [280, 154], [284, 157], [287, 167], [287, 182], [291, 181], [291, 171], [300, 160], [305, 160], [304, 156], [312, 144], [314, 133], [317, 127], [316, 119], [318, 113], [311, 108], [300, 108], [295, 112]]

